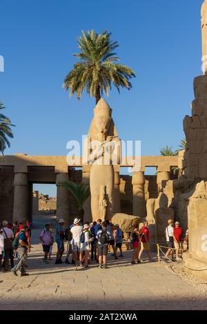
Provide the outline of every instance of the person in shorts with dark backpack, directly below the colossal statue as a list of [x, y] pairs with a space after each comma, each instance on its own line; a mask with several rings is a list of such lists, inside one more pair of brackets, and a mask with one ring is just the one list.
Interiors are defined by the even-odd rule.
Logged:
[[106, 221], [102, 222], [101, 229], [97, 232], [99, 267], [107, 268], [108, 242], [111, 240], [110, 231], [107, 230]]

